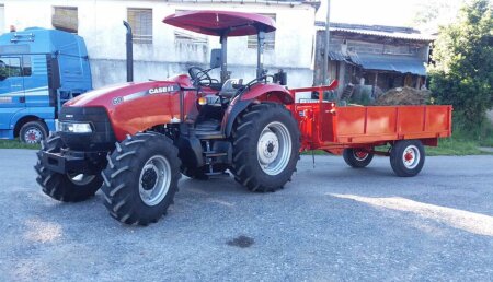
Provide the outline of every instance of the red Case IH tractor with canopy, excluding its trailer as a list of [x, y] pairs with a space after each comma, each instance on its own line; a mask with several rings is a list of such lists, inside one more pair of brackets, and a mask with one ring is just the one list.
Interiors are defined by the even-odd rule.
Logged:
[[[37, 183], [51, 198], [74, 202], [100, 188], [110, 214], [127, 224], [158, 221], [173, 202], [181, 174], [204, 179], [229, 169], [252, 191], [275, 191], [299, 158], [298, 125], [284, 105], [294, 97], [285, 73], [263, 69], [272, 19], [239, 12], [196, 11], [164, 23], [220, 37], [210, 69], [167, 81], [92, 91], [64, 105], [59, 131], [38, 152]], [[227, 42], [257, 35], [256, 79], [230, 79]], [[220, 67], [220, 80], [209, 71]], [[267, 82], [272, 80], [272, 82]]]

